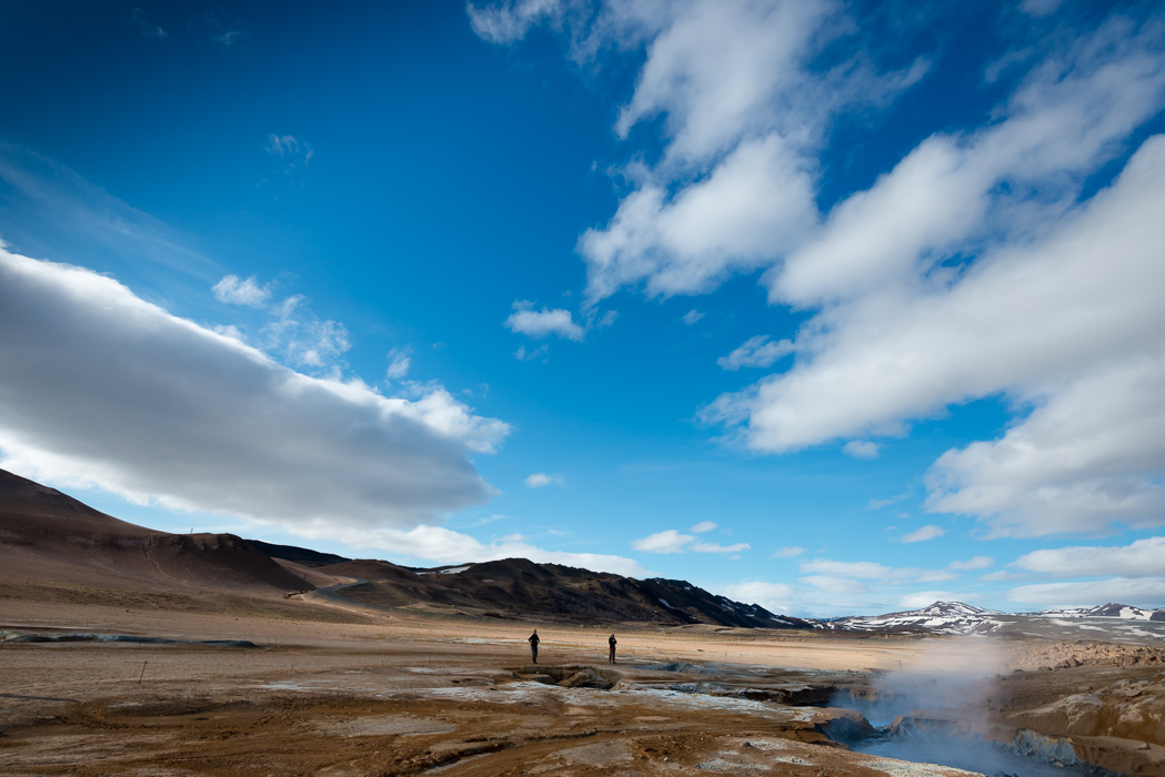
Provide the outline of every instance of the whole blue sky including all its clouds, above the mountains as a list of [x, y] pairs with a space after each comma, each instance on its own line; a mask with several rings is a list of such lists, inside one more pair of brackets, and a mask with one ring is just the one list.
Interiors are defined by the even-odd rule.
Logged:
[[797, 615], [1165, 606], [1157, 3], [0, 19], [0, 466]]

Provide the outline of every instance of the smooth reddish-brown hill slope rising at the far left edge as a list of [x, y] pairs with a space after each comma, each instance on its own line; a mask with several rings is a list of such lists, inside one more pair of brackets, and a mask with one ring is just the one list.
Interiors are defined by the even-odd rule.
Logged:
[[312, 587], [234, 535], [144, 529], [3, 469], [0, 579], [184, 593]]

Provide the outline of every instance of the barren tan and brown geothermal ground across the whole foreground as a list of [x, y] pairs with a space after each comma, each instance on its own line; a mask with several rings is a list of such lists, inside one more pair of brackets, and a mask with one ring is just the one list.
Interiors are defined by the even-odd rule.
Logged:
[[[0, 598], [6, 775], [924, 777], [966, 772], [876, 753], [958, 740], [1026, 777], [991, 744], [1021, 729], [1061, 761], [1165, 775], [1159, 648], [627, 627], [612, 666], [609, 627], [532, 624], [532, 666], [529, 623], [31, 593]], [[875, 723], [913, 709], [899, 730], [923, 749], [831, 705]]]

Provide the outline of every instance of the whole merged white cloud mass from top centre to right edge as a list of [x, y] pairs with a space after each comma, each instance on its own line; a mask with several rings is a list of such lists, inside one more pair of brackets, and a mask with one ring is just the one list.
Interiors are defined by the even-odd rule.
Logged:
[[[835, 204], [821, 189], [834, 179], [822, 169], [832, 122], [926, 70], [871, 64], [859, 6], [514, 1], [501, 9], [521, 33], [482, 34], [513, 41], [553, 20], [576, 57], [642, 52], [615, 123], [634, 146], [629, 190], [578, 242], [591, 305], [762, 270], [771, 304], [809, 316], [791, 367], [716, 398], [704, 419], [782, 453], [904, 435], [1002, 398], [1016, 423], [941, 457], [927, 508], [993, 536], [1044, 536], [1165, 522], [1165, 410], [1153, 401], [1165, 388], [1165, 137], [1142, 141], [1165, 106], [1165, 24], [1144, 8], [1012, 41], [982, 63], [1002, 97], [980, 125], [922, 128]], [[657, 158], [643, 150], [656, 148]]]

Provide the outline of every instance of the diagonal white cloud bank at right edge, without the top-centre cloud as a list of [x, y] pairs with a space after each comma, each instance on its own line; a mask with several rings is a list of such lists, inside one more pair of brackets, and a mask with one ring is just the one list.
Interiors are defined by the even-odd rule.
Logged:
[[[1165, 411], [1145, 408], [1165, 381], [1153, 335], [1165, 327], [1165, 140], [1145, 141], [1109, 190], [1073, 198], [1160, 108], [1160, 33], [1106, 24], [1037, 66], [1003, 120], [932, 136], [834, 209], [769, 276], [775, 301], [821, 306], [797, 363], [707, 416], [779, 452], [901, 433], [1004, 393], [1037, 410], [1003, 440], [944, 457], [931, 509], [997, 535], [1159, 524]], [[960, 252], [974, 261], [939, 263]]]

